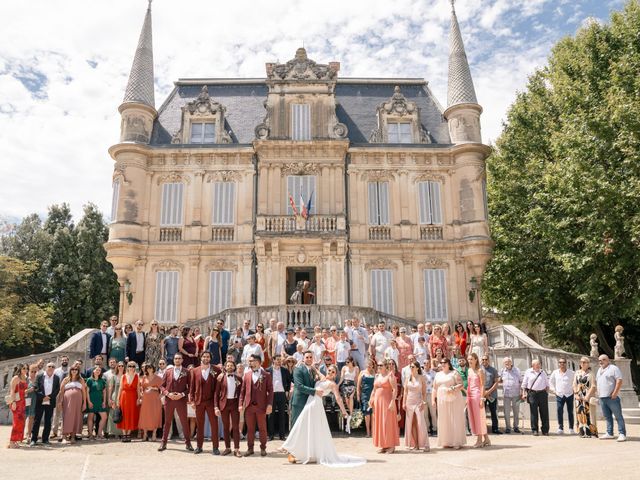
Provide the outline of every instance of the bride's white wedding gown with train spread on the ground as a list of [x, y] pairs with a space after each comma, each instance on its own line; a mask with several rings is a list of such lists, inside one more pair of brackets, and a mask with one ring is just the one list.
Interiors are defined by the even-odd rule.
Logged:
[[[316, 388], [322, 389], [323, 397], [331, 393], [328, 380], [316, 382]], [[319, 395], [309, 395], [282, 448], [302, 463], [315, 462], [327, 467], [358, 467], [367, 462], [361, 457], [338, 455], [333, 445], [322, 397]]]

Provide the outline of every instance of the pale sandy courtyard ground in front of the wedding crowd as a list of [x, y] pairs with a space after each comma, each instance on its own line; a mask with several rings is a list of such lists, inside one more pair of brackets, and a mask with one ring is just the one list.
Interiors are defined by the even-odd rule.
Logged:
[[[555, 425], [552, 424], [552, 431]], [[602, 423], [599, 428], [603, 428]], [[289, 465], [286, 456], [275, 450], [282, 442], [268, 445], [269, 456], [261, 458], [213, 457], [193, 455], [179, 443], [167, 451], [156, 451], [158, 444], [133, 442], [88, 442], [77, 446], [53, 443], [49, 448], [0, 449], [1, 478], [63, 480], [128, 478], [206, 478], [206, 479], [459, 479], [516, 480], [589, 478], [638, 478], [640, 425], [629, 425], [626, 443], [576, 436], [533, 437], [531, 435], [493, 435], [490, 448], [453, 451], [433, 449], [430, 453], [407, 452], [393, 455], [375, 452], [371, 440], [362, 437], [336, 438], [339, 452], [363, 456], [367, 464], [358, 468], [330, 469], [319, 465]], [[3, 443], [10, 427], [0, 427]], [[435, 439], [431, 439], [432, 442]], [[471, 439], [469, 439], [472, 442]], [[210, 444], [209, 444], [210, 445]], [[241, 443], [244, 449], [246, 444]], [[578, 473], [580, 472], [580, 473]], [[133, 474], [133, 476], [132, 476]]]

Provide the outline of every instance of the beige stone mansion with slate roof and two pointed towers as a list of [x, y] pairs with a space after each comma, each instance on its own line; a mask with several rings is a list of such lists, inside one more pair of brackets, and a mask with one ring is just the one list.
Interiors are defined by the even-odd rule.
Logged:
[[299, 48], [156, 109], [151, 33], [149, 8], [109, 149], [121, 321], [285, 305], [304, 280], [318, 305], [478, 318], [490, 150], [455, 11], [446, 108], [424, 79], [342, 78]]

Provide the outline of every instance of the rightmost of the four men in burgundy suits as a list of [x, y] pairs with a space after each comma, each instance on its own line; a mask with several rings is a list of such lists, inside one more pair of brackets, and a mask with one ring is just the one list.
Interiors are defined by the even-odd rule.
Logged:
[[247, 452], [245, 457], [253, 455], [256, 437], [256, 424], [260, 431], [260, 456], [267, 455], [267, 415], [271, 414], [273, 404], [273, 384], [271, 375], [260, 365], [260, 355], [251, 355], [251, 368], [244, 374], [240, 390], [240, 406], [244, 409], [244, 421], [247, 424]]

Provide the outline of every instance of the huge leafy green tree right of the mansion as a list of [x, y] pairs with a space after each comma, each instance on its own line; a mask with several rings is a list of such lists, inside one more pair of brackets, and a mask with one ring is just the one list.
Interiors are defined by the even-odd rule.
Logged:
[[[548, 340], [640, 356], [640, 4], [553, 49], [488, 159], [485, 302]], [[634, 365], [635, 362], [632, 362]], [[637, 372], [635, 372], [637, 374]], [[638, 382], [636, 382], [638, 383]]]

